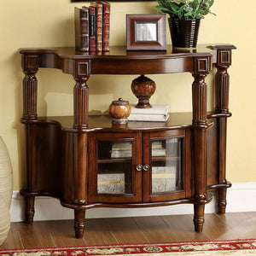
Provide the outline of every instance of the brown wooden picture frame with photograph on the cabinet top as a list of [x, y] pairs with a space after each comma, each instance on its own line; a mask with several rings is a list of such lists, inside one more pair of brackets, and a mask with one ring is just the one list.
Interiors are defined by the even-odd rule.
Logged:
[[166, 50], [166, 15], [126, 15], [127, 50]]

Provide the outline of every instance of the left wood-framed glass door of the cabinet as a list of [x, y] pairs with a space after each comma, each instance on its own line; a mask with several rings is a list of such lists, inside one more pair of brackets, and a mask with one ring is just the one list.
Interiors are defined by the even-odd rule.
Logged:
[[[140, 148], [137, 136], [125, 137], [125, 134], [99, 133], [90, 145], [90, 197], [94, 201], [129, 202], [135, 201], [141, 192], [138, 191], [137, 172], [139, 163], [137, 152]], [[91, 144], [91, 143], [90, 143]], [[141, 150], [141, 149], [140, 149]], [[140, 160], [141, 161], [141, 160]], [[139, 195], [140, 194], [140, 195]]]

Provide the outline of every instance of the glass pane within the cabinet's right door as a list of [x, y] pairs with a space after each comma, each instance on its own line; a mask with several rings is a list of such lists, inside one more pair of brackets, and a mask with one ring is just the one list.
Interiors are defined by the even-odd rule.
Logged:
[[166, 138], [152, 143], [151, 192], [182, 189], [182, 138]]

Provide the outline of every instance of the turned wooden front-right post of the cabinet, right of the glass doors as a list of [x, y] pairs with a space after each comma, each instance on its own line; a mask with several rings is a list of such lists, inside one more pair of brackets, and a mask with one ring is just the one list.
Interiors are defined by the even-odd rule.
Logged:
[[207, 201], [207, 84], [205, 77], [210, 71], [211, 59], [195, 58], [195, 69], [192, 84], [193, 102], [193, 163], [195, 172], [195, 203], [194, 224], [195, 231], [203, 229], [204, 209]]

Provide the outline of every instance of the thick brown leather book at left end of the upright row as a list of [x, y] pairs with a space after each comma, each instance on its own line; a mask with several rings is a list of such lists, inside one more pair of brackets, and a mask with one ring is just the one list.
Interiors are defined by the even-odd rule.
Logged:
[[80, 51], [89, 50], [89, 9], [75, 8], [75, 44]]

